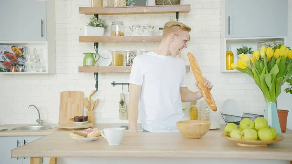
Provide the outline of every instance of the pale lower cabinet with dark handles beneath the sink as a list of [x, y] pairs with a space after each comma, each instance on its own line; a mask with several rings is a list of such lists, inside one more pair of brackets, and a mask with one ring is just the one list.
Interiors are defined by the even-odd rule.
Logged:
[[[0, 137], [0, 164], [30, 164], [30, 158], [11, 158], [11, 150], [44, 136], [2, 136]], [[44, 158], [43, 164], [48, 164]]]

